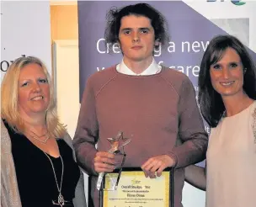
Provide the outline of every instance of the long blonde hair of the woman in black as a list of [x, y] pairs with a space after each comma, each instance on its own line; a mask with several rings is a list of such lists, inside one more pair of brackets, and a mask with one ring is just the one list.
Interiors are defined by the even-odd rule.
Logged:
[[67, 130], [61, 125], [56, 114], [56, 98], [54, 96], [51, 77], [45, 64], [37, 57], [19, 57], [8, 67], [1, 84], [1, 116], [8, 122], [8, 125], [10, 125], [13, 130], [21, 134], [24, 132], [24, 120], [20, 116], [18, 109], [19, 72], [24, 66], [33, 63], [41, 66], [50, 86], [50, 103], [45, 112], [47, 130], [56, 137], [62, 137], [67, 133]]

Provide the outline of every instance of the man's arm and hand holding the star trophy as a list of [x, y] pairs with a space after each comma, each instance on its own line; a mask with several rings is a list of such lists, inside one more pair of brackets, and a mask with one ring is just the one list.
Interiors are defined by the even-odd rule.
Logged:
[[77, 130], [73, 139], [77, 163], [89, 175], [112, 172], [115, 169], [116, 162], [113, 154], [96, 150], [95, 145], [99, 139], [99, 125], [95, 105], [95, 93], [89, 78], [83, 93]]

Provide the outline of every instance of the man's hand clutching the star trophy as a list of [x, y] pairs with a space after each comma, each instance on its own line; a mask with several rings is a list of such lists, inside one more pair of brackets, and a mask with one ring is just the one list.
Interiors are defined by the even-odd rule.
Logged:
[[115, 155], [105, 151], [98, 151], [94, 157], [94, 170], [97, 173], [111, 173], [115, 170]]

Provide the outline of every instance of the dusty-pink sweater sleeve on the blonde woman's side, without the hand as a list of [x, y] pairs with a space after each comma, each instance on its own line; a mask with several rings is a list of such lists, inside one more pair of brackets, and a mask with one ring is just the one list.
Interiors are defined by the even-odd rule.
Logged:
[[88, 175], [97, 174], [94, 171], [93, 159], [96, 155], [96, 143], [99, 137], [99, 125], [95, 106], [95, 93], [91, 79], [83, 92], [83, 99], [77, 121], [77, 130], [73, 139], [77, 163]]

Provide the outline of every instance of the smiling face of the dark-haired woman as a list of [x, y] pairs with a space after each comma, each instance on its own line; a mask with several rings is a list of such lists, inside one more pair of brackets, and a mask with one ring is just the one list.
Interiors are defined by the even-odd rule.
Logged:
[[243, 94], [243, 64], [236, 50], [227, 48], [221, 60], [210, 66], [210, 76], [222, 98]]

